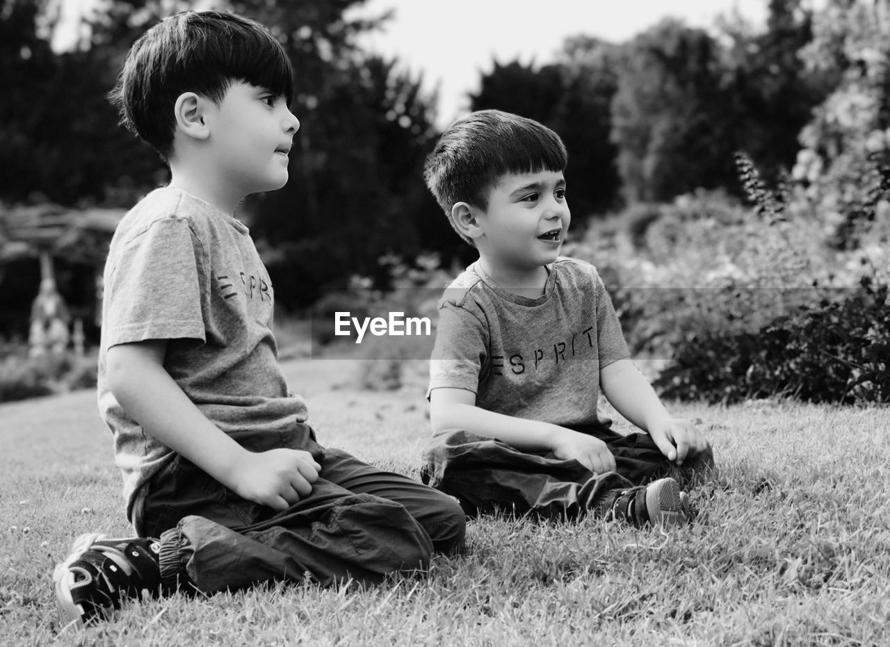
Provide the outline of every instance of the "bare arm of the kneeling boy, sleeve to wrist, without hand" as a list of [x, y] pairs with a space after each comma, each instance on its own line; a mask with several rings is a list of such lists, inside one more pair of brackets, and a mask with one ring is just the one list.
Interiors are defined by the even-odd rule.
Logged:
[[226, 483], [246, 450], [182, 392], [163, 367], [164, 352], [164, 342], [112, 346], [108, 352], [111, 392], [146, 433]]

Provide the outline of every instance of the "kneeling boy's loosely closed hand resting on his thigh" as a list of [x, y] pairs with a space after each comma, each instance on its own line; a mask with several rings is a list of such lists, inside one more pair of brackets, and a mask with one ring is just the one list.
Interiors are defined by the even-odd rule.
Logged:
[[275, 510], [287, 510], [312, 492], [321, 465], [302, 449], [270, 449], [245, 452], [245, 458], [232, 474], [231, 484], [239, 497]]

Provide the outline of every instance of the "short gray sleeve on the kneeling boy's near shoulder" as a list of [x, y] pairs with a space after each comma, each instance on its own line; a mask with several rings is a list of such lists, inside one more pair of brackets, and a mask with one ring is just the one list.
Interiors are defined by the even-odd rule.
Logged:
[[189, 223], [163, 218], [121, 243], [105, 281], [105, 348], [149, 339], [205, 341], [206, 281]]

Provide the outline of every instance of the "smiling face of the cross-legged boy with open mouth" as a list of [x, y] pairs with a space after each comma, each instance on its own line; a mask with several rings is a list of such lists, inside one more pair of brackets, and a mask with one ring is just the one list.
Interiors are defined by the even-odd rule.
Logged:
[[562, 172], [502, 176], [478, 222], [476, 246], [492, 269], [515, 274], [553, 263], [571, 222]]

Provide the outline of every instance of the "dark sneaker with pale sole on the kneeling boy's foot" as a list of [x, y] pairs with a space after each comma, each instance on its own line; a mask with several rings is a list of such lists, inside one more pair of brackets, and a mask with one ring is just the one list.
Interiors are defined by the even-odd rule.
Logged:
[[81, 535], [53, 571], [61, 627], [109, 619], [125, 598], [157, 594], [161, 586], [157, 539]]

